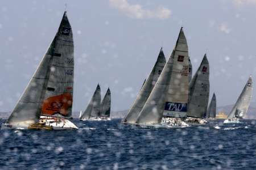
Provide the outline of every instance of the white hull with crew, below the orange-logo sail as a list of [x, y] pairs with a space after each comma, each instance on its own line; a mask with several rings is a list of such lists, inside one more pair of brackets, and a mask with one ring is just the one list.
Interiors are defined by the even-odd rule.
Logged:
[[46, 123], [46, 126], [51, 126], [53, 130], [78, 129], [73, 122], [65, 118], [40, 116], [40, 122]]

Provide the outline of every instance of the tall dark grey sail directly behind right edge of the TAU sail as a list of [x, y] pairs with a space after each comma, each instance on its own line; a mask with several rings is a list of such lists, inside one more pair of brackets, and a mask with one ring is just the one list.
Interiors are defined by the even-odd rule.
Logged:
[[207, 55], [189, 83], [188, 117], [203, 118], [207, 113], [209, 100], [209, 62]]

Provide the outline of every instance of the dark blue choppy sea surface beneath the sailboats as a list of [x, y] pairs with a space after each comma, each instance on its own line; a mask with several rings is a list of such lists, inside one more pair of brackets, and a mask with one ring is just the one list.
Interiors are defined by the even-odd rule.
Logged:
[[158, 130], [72, 121], [79, 130], [1, 130], [0, 169], [256, 169], [253, 120]]

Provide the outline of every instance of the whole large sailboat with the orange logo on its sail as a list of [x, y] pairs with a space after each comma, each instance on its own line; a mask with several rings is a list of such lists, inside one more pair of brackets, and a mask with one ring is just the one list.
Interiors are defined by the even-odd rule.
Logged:
[[64, 12], [51, 45], [2, 128], [77, 129], [67, 119], [73, 103], [73, 48], [72, 29]]

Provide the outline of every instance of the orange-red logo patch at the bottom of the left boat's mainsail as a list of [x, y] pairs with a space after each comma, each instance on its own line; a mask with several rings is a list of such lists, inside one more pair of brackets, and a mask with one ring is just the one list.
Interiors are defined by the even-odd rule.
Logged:
[[62, 114], [68, 116], [68, 109], [72, 107], [72, 96], [65, 93], [58, 96], [52, 96], [43, 101], [42, 113], [43, 114]]

